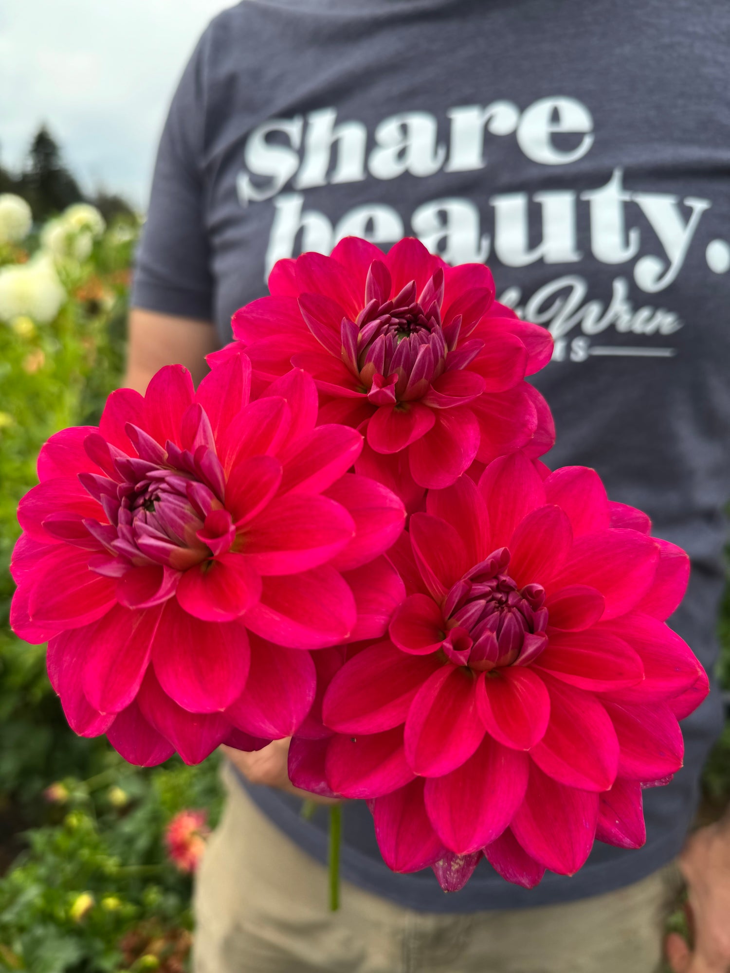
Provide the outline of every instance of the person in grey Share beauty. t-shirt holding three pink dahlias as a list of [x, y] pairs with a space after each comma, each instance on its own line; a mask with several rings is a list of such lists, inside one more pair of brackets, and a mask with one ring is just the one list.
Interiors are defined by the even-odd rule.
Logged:
[[614, 6], [247, 0], [182, 78], [14, 624], [77, 732], [226, 746], [199, 973], [648, 971], [680, 852], [673, 968], [730, 964], [728, 23]]

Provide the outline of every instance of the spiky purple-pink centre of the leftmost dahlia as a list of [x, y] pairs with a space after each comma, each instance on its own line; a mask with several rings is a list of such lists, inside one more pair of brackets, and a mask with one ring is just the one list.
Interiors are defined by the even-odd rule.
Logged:
[[162, 564], [185, 571], [231, 549], [236, 527], [223, 506], [223, 467], [207, 418], [198, 418], [190, 450], [171, 442], [163, 448], [130, 424], [127, 432], [137, 457], [109, 447], [96, 434], [87, 437], [87, 451], [109, 474], [79, 476], [109, 521], [84, 521], [113, 556], [94, 561], [94, 570], [121, 576], [131, 566]]

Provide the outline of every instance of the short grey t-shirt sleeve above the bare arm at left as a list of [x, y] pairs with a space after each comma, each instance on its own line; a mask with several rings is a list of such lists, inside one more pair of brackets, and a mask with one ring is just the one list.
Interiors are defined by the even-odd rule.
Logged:
[[212, 321], [202, 169], [208, 36], [206, 31], [185, 69], [164, 125], [135, 258], [131, 304]]

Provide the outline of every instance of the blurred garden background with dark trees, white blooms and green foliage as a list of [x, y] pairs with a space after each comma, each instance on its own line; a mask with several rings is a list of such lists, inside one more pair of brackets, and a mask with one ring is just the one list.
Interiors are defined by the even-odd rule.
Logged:
[[[210, 6], [223, 4], [208, 4], [208, 15]], [[174, 81], [170, 72], [168, 90]], [[0, 138], [5, 121], [0, 113]], [[94, 130], [88, 136], [99, 138]], [[151, 160], [152, 134], [148, 142]], [[45, 126], [16, 162], [0, 165], [0, 970], [182, 973], [192, 870], [220, 812], [217, 762], [189, 768], [174, 758], [140, 770], [106, 739], [75, 737], [49, 684], [45, 647], [9, 627], [16, 506], [36, 483], [38, 450], [63, 426], [94, 424], [125, 363], [149, 165], [122, 195], [91, 191], [72, 169]], [[718, 674], [729, 691], [727, 595], [718, 626]], [[704, 789], [712, 817], [730, 796], [730, 724]], [[683, 928], [680, 908], [672, 922]]]

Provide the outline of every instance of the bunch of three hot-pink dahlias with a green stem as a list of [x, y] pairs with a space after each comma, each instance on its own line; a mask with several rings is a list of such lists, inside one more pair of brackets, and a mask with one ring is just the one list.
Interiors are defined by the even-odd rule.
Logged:
[[197, 391], [170, 366], [41, 451], [12, 623], [71, 727], [144, 765], [293, 737], [294, 784], [447, 890], [639, 847], [708, 692], [666, 625], [689, 561], [538, 459], [549, 334], [413, 239], [269, 284]]

